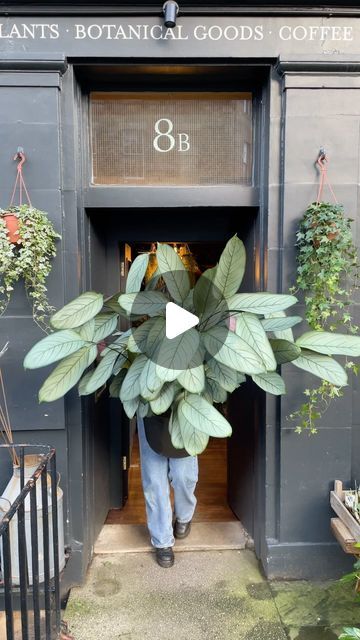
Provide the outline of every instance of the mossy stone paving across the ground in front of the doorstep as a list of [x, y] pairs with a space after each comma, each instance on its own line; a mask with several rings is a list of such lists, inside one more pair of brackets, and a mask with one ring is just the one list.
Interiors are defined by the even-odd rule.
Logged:
[[268, 582], [243, 550], [95, 556], [63, 617], [75, 640], [333, 640], [358, 611], [352, 585]]

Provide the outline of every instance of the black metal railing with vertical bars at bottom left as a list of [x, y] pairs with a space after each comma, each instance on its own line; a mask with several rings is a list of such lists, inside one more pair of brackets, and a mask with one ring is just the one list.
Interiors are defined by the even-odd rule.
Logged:
[[[5, 639], [55, 640], [61, 624], [55, 449], [45, 445], [0, 445], [0, 450], [4, 448], [16, 452], [20, 472], [20, 492], [0, 519], [0, 609], [5, 611]], [[25, 483], [25, 453], [34, 451], [39, 456], [38, 466]], [[44, 578], [41, 581], [39, 559]]]

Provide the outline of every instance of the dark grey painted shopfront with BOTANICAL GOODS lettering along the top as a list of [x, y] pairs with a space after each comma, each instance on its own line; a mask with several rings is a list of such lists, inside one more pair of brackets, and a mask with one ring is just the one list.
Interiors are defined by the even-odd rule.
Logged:
[[[22, 146], [32, 201], [62, 235], [49, 279], [51, 303], [60, 308], [86, 289], [121, 290], [129, 247], [181, 234], [211, 244], [238, 232], [247, 245], [248, 287], [286, 292], [295, 279], [297, 221], [316, 198], [321, 147], [358, 241], [357, 17], [350, 6], [188, 2], [171, 29], [160, 5], [0, 8], [0, 204], [10, 199], [12, 157]], [[144, 102], [136, 117], [122, 111], [124, 97], [127, 104]], [[233, 121], [235, 151], [227, 164], [223, 104], [235, 98], [243, 111]], [[201, 103], [196, 113], [191, 99]], [[137, 147], [144, 121], [149, 156]], [[219, 162], [210, 162], [217, 151]], [[41, 334], [21, 286], [0, 322], [9, 340], [2, 368], [16, 441], [57, 449], [67, 581], [74, 584], [84, 576], [107, 511], [123, 504], [120, 403], [81, 400], [74, 391], [39, 405], [44, 372], [25, 372], [22, 362]], [[358, 381], [310, 438], [296, 434], [287, 416], [311, 381], [287, 366], [283, 375], [288, 393], [281, 401], [248, 386], [230, 402], [236, 433], [229, 503], [269, 577], [338, 577], [351, 558], [331, 533], [328, 495], [335, 478], [359, 479]]]

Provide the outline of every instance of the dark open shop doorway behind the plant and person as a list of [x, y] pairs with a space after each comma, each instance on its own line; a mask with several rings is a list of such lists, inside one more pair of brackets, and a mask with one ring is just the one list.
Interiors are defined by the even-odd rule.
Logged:
[[[217, 263], [222, 248], [234, 233], [247, 249], [242, 289], [256, 290], [259, 267], [255, 208], [121, 209], [111, 213], [98, 210], [91, 212], [89, 223], [89, 284], [94, 290], [105, 291], [107, 295], [123, 290], [131, 260], [156, 241], [187, 246], [202, 271]], [[200, 456], [196, 520], [239, 519], [252, 535], [256, 517], [255, 434], [260, 413], [253, 385], [245, 386], [228, 402], [232, 437], [211, 439]], [[119, 401], [100, 402], [107, 404], [107, 408], [103, 406], [103, 411], [95, 412], [93, 419], [101, 421], [104, 436], [104, 414], [107, 416], [109, 455], [108, 488], [103, 487], [100, 518], [108, 524], [143, 524], [145, 509], [134, 423], [129, 424]]]

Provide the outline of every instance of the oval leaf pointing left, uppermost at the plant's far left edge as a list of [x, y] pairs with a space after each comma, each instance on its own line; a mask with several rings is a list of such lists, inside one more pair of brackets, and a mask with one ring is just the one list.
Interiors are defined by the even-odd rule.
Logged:
[[95, 291], [87, 291], [66, 304], [51, 317], [55, 329], [74, 329], [96, 316], [102, 309], [103, 296]]

